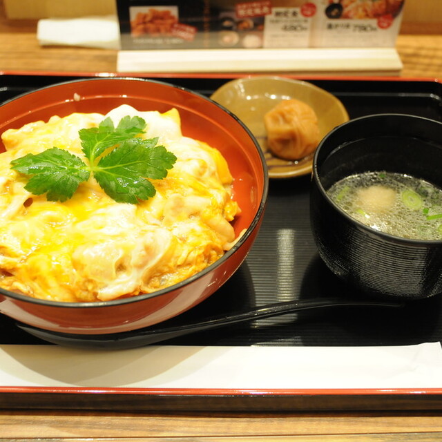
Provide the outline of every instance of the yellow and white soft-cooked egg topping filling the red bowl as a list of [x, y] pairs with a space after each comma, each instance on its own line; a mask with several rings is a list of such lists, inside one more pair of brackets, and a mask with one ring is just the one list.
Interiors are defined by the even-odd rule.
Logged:
[[[146, 123], [177, 162], [156, 195], [140, 204], [109, 198], [90, 178], [73, 198], [50, 202], [32, 195], [10, 161], [57, 146], [81, 152], [78, 131], [105, 117]], [[218, 150], [182, 136], [176, 109], [138, 112], [120, 106], [108, 115], [74, 113], [33, 122], [2, 135], [0, 155], [0, 287], [66, 302], [113, 300], [163, 289], [218, 260], [238, 239], [230, 222], [240, 213], [232, 176]]]

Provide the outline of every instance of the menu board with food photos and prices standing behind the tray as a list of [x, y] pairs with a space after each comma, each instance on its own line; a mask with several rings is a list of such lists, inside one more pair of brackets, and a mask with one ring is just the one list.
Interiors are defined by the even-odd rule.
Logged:
[[123, 50], [394, 46], [405, 0], [117, 0]]

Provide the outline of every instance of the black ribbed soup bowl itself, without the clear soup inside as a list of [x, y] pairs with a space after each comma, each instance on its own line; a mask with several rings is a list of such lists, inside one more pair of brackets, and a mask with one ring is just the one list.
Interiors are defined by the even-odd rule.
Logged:
[[442, 240], [372, 229], [345, 213], [327, 190], [349, 175], [386, 171], [442, 188], [442, 122], [402, 114], [352, 119], [320, 142], [313, 163], [311, 229], [320, 257], [360, 293], [402, 299], [442, 292]]

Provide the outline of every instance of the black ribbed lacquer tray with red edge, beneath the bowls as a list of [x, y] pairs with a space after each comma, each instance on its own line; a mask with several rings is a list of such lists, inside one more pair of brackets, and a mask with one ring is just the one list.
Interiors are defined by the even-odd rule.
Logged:
[[[78, 78], [0, 75], [0, 102], [28, 90]], [[184, 86], [209, 96], [231, 78], [156, 77], [155, 79]], [[336, 95], [347, 108], [350, 118], [374, 113], [408, 113], [442, 121], [442, 84], [439, 81], [378, 78], [307, 80]], [[309, 175], [271, 180], [265, 218], [247, 260], [231, 280], [211, 298], [179, 318], [163, 323], [162, 327], [204, 320], [210, 316], [271, 302], [327, 296], [358, 296], [352, 287], [347, 287], [330, 273], [318, 256], [309, 224], [309, 186]], [[413, 345], [441, 340], [442, 298], [434, 296], [427, 300], [407, 303], [400, 311], [347, 307], [327, 309], [320, 313], [287, 314], [175, 338], [162, 345], [378, 346]], [[23, 332], [14, 320], [0, 315], [1, 344], [47, 343]], [[320, 395], [311, 396], [310, 402], [308, 400], [306, 402], [302, 395], [303, 398], [296, 396], [291, 399], [287, 395], [279, 398], [276, 395], [273, 401], [267, 401], [267, 406], [261, 403], [258, 409], [348, 407], [434, 409], [439, 408], [439, 403], [442, 403], [440, 401], [442, 394], [439, 393], [430, 395], [431, 398], [421, 396], [417, 402], [416, 396], [409, 400], [410, 395], [407, 394], [395, 394], [390, 399], [380, 398], [379, 394], [367, 394], [356, 402], [352, 394], [349, 396], [339, 394], [335, 399], [327, 395], [325, 402], [321, 402]], [[138, 397], [136, 403], [144, 410], [155, 406], [169, 410], [177, 410], [180, 407], [186, 410], [201, 407], [205, 409], [206, 406], [210, 407], [207, 405], [210, 403], [213, 410], [253, 410], [257, 407], [253, 405], [256, 404], [253, 401], [249, 402], [249, 396], [247, 399], [242, 397], [238, 401], [234, 400], [235, 395], [233, 398], [231, 395], [227, 396], [222, 395], [224, 401], [218, 397], [211, 402], [204, 396], [196, 395], [193, 396], [192, 402], [189, 396], [183, 398], [180, 395], [169, 395], [167, 400], [156, 401], [157, 405], [147, 400], [143, 402]], [[347, 401], [344, 398], [347, 398]], [[116, 401], [117, 404], [120, 399], [121, 396]], [[84, 401], [84, 398], [82, 400]], [[19, 394], [0, 394], [0, 406], [6, 402], [8, 406], [20, 407], [22, 403], [26, 403], [26, 400], [23, 401]], [[35, 399], [34, 403], [35, 406], [47, 406], [44, 405], [46, 399], [41, 401]], [[109, 404], [111, 402], [108, 401], [106, 407], [109, 407]], [[77, 406], [82, 407], [81, 404]], [[136, 405], [134, 407], [137, 408]]]

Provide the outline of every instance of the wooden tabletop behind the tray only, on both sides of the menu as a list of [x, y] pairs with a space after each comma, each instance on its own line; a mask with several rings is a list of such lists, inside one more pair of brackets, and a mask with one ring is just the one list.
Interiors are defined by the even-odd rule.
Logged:
[[[0, 72], [115, 73], [117, 51], [95, 48], [41, 47], [36, 38], [37, 22], [8, 21], [0, 0]], [[413, 34], [398, 36], [396, 49], [403, 61], [401, 77], [442, 78], [442, 25], [413, 26]], [[439, 29], [440, 28], [440, 29]]]

